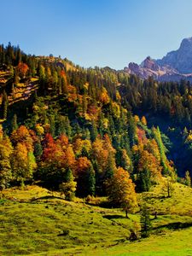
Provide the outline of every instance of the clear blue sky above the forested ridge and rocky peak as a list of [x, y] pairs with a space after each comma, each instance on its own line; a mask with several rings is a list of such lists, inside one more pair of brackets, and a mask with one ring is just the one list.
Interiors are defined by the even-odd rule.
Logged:
[[0, 44], [122, 69], [192, 37], [191, 0], [0, 0]]

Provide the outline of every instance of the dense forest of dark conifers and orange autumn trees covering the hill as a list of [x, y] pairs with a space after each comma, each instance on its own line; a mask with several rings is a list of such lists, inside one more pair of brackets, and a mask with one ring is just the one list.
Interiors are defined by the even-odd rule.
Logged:
[[10, 43], [0, 46], [0, 67], [1, 189], [37, 182], [67, 200], [108, 195], [131, 208], [162, 177], [190, 183], [189, 83], [85, 69]]

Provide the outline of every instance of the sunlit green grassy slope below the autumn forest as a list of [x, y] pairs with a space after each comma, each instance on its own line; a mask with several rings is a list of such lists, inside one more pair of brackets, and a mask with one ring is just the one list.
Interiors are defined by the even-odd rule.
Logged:
[[37, 186], [4, 190], [0, 255], [192, 255], [192, 189], [176, 186], [172, 198], [159, 196], [160, 187], [144, 195], [161, 215], [153, 234], [134, 242], [127, 238], [138, 214], [126, 219], [119, 209], [67, 202]]

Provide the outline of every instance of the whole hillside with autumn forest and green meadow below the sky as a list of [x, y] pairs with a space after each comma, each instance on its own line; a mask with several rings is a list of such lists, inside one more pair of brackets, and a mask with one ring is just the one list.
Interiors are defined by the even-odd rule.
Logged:
[[151, 241], [143, 252], [165, 255], [166, 237], [189, 236], [191, 84], [11, 44], [0, 69], [0, 253], [134, 255]]

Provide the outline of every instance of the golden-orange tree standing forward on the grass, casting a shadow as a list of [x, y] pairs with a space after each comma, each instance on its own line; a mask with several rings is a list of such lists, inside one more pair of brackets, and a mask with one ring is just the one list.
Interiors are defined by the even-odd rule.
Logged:
[[120, 206], [125, 210], [125, 217], [128, 212], [137, 207], [137, 195], [135, 185], [132, 183], [130, 175], [122, 167], [119, 167], [113, 177], [107, 183], [108, 200], [115, 206]]

